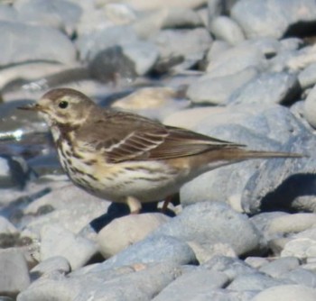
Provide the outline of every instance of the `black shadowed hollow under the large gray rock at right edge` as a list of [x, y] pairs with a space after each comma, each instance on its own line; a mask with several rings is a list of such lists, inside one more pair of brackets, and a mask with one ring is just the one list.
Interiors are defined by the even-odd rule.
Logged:
[[283, 211], [293, 214], [299, 211], [313, 212], [316, 210], [316, 204], [314, 208], [311, 206], [309, 209], [307, 205], [300, 208], [298, 199], [304, 196], [315, 196], [316, 198], [315, 174], [296, 174], [286, 178], [279, 187], [262, 199], [260, 212]]

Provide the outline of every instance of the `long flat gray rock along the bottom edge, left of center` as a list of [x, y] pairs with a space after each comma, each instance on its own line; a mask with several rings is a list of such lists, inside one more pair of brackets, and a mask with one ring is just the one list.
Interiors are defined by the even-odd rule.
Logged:
[[70, 274], [67, 278], [39, 278], [17, 300], [151, 300], [180, 275], [181, 269], [168, 262], [139, 264], [107, 270], [106, 273], [102, 270], [84, 275]]

